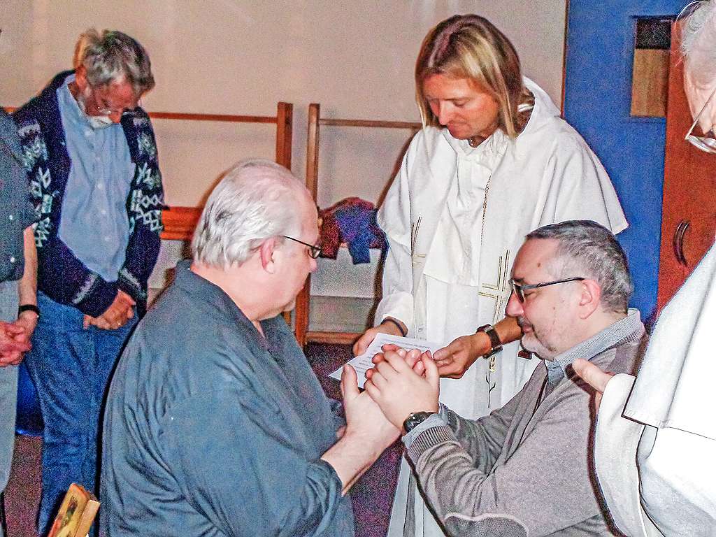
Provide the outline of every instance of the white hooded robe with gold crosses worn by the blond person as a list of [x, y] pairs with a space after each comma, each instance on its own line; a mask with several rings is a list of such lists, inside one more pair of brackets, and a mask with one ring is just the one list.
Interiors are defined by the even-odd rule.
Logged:
[[[533, 229], [575, 218], [614, 233], [627, 227], [596, 155], [548, 95], [525, 84], [535, 107], [516, 140], [498, 131], [473, 148], [435, 127], [413, 138], [378, 213], [390, 249], [376, 324], [392, 316], [411, 337], [447, 345], [503, 318], [513, 259]], [[478, 359], [462, 379], [441, 379], [440, 401], [470, 419], [501, 407], [536, 366], [518, 349], [505, 345], [489, 374]], [[419, 495], [409, 494], [409, 475], [403, 460], [389, 536], [403, 535], [409, 503], [416, 536], [442, 536]]]

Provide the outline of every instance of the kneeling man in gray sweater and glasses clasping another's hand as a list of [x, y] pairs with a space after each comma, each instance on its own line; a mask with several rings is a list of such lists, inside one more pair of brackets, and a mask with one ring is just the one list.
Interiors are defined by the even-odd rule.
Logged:
[[[440, 406], [429, 354], [386, 350], [366, 390], [402, 440], [427, 503], [450, 536], [609, 536], [591, 470], [594, 390], [571, 362], [634, 372], [646, 342], [627, 259], [591, 221], [529, 233], [518, 252], [507, 314], [543, 360], [504, 407], [465, 420]], [[417, 362], [416, 362], [417, 360]], [[408, 516], [405, 535], [412, 535]]]

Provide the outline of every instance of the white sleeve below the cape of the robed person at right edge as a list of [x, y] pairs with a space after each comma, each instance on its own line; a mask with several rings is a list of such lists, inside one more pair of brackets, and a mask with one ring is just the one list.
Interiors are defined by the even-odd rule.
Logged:
[[632, 537], [712, 536], [716, 441], [623, 417], [633, 383], [609, 381], [596, 422], [594, 465], [614, 523]]

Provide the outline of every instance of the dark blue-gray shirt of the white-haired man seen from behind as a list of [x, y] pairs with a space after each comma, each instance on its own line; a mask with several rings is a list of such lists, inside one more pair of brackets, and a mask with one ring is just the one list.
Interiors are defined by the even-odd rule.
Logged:
[[180, 263], [120, 358], [105, 413], [100, 532], [354, 534], [320, 460], [341, 420], [281, 316], [266, 339]]

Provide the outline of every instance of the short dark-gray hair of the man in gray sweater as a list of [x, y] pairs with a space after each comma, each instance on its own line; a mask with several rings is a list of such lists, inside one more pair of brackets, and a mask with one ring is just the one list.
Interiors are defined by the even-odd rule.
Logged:
[[581, 276], [596, 281], [601, 288], [601, 305], [616, 313], [626, 313], [634, 293], [629, 263], [614, 235], [591, 220], [569, 220], [542, 226], [526, 239], [553, 238], [558, 241], [552, 269], [557, 278]]

